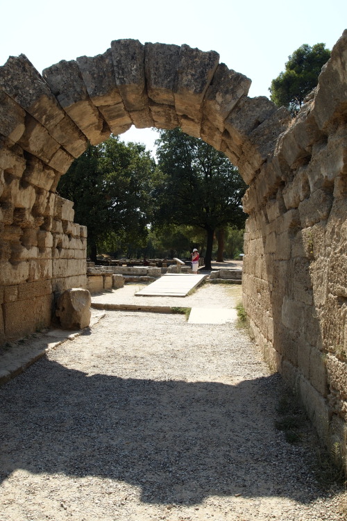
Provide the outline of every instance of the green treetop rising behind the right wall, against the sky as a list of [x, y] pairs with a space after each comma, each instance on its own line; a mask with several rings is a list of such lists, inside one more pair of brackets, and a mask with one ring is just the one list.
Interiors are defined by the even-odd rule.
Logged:
[[285, 72], [273, 79], [269, 91], [273, 103], [287, 107], [291, 115], [296, 115], [307, 94], [316, 87], [321, 68], [330, 58], [330, 50], [325, 49], [323, 43], [313, 47], [303, 44], [288, 58]]

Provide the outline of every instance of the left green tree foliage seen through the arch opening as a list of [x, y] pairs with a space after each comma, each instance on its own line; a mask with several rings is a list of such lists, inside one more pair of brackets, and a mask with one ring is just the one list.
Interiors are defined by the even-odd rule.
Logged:
[[74, 201], [75, 220], [88, 229], [88, 253], [144, 245], [151, 219], [154, 160], [142, 144], [111, 136], [90, 145], [62, 176], [58, 193]]

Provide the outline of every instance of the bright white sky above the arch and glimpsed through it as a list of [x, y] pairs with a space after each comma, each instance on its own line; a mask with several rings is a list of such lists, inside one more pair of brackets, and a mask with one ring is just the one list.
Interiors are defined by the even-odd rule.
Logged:
[[[346, 0], [3, 0], [0, 13], [0, 65], [24, 53], [42, 72], [103, 53], [119, 38], [188, 44], [217, 51], [251, 78], [251, 97], [269, 97], [271, 80], [302, 44], [332, 49], [347, 28]], [[153, 149], [157, 134], [132, 127], [122, 138]]]

